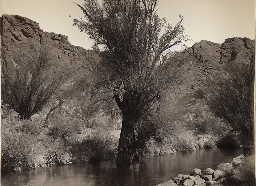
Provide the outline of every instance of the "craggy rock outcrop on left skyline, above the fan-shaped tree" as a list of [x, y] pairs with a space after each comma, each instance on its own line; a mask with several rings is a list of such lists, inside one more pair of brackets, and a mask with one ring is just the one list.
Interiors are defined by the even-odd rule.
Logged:
[[[1, 17], [0, 31], [2, 64], [8, 65], [9, 69], [14, 69], [17, 65], [30, 66], [30, 63], [35, 62], [36, 51], [40, 45], [45, 45], [51, 49], [52, 53], [52, 60], [48, 64], [50, 66], [48, 73], [53, 73], [62, 67], [68, 67], [71, 72], [71, 76], [58, 93], [60, 96], [64, 94], [69, 96], [67, 91], [77, 89], [79, 85], [76, 82], [81, 81], [81, 78], [84, 78], [84, 82], [90, 81], [90, 73], [85, 68], [88, 67], [89, 61], [97, 61], [98, 56], [91, 50], [71, 45], [67, 36], [45, 32], [38, 23], [28, 18], [5, 14]], [[74, 94], [67, 103], [63, 104], [63, 107], [71, 109], [71, 102], [75, 104], [77, 94], [81, 94], [81, 92], [73, 92]], [[52, 105], [54, 103], [52, 102]], [[52, 105], [48, 105], [49, 108]]]

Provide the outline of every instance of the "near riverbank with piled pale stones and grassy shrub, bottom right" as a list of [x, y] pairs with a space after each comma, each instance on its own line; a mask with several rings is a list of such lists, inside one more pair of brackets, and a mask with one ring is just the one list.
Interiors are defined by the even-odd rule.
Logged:
[[211, 168], [191, 171], [190, 175], [179, 174], [168, 182], [156, 186], [254, 186], [255, 163], [254, 155], [240, 155], [233, 158], [231, 163], [221, 163], [216, 170]]

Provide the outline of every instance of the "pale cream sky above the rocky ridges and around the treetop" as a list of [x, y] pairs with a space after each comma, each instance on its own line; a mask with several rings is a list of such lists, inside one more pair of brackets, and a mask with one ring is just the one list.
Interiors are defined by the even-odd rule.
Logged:
[[[77, 7], [83, 0], [0, 0], [1, 15], [13, 14], [39, 23], [46, 32], [68, 36], [72, 45], [91, 49], [92, 40], [73, 27], [74, 17], [84, 16]], [[73, 3], [75, 2], [75, 3]], [[193, 41], [223, 43], [229, 37], [255, 39], [255, 0], [159, 0], [159, 15], [175, 25], [184, 17], [185, 33]], [[180, 46], [177, 46], [179, 49]]]

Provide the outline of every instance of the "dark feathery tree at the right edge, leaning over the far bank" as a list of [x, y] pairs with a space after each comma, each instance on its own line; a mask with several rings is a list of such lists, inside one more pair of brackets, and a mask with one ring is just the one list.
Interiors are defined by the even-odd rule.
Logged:
[[253, 94], [255, 77], [255, 49], [245, 61], [236, 61], [236, 52], [226, 65], [227, 77], [216, 77], [215, 85], [209, 93], [199, 89], [197, 97], [203, 98], [212, 112], [222, 118], [235, 132], [240, 145], [252, 147], [254, 144]]

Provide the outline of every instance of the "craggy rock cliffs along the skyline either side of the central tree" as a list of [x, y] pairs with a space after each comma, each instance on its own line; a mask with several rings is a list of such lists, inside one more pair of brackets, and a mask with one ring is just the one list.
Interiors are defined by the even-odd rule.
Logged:
[[[63, 86], [63, 90], [73, 89], [73, 92], [77, 93], [74, 83], [81, 78], [85, 81], [89, 81], [90, 78], [88, 70], [82, 66], [88, 65], [89, 61], [97, 61], [98, 56], [91, 50], [70, 44], [67, 36], [43, 31], [38, 23], [28, 18], [17, 15], [1, 17], [2, 63], [22, 66], [26, 61], [20, 58], [26, 56], [33, 59], [36, 48], [42, 43], [52, 49], [52, 68], [68, 65], [73, 70], [73, 76]], [[238, 62], [246, 62], [247, 53], [253, 49], [254, 40], [229, 38], [222, 44], [202, 40], [184, 52], [179, 52], [177, 60], [183, 61], [180, 69], [181, 83], [170, 94], [170, 99], [175, 102], [178, 98], [189, 95], [197, 86], [211, 83], [214, 76], [225, 75], [224, 67], [227, 62], [232, 58], [236, 58]]]

